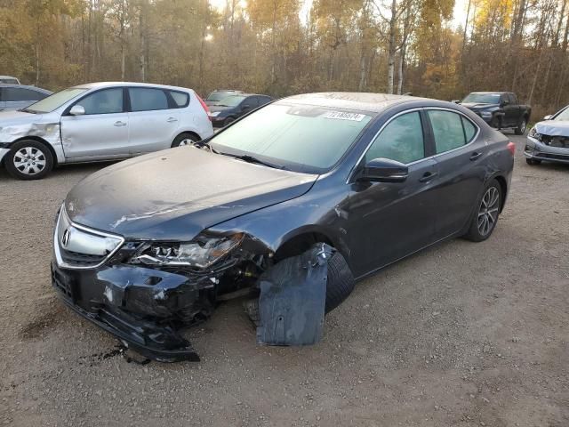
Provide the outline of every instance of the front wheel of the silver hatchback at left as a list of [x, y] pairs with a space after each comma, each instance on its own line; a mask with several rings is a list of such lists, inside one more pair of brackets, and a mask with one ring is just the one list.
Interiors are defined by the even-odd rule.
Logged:
[[6, 171], [18, 180], [41, 180], [52, 171], [53, 156], [41, 142], [18, 141], [4, 157], [4, 165]]

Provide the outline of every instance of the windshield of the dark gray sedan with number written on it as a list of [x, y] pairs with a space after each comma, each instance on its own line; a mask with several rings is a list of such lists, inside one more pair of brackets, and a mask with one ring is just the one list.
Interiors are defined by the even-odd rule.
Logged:
[[220, 152], [249, 155], [295, 172], [332, 168], [372, 116], [285, 102], [269, 104], [212, 138]]

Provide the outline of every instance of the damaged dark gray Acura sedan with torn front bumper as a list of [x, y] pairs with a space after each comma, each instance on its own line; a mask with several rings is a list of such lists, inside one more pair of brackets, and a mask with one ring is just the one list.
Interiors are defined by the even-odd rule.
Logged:
[[52, 284], [150, 359], [198, 360], [180, 329], [236, 296], [257, 342], [311, 344], [358, 278], [446, 238], [488, 238], [514, 149], [449, 102], [285, 98], [77, 184], [58, 214]]

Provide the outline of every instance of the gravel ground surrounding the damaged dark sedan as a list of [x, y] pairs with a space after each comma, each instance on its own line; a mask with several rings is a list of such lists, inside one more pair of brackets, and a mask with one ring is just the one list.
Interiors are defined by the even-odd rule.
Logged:
[[517, 142], [493, 237], [446, 242], [358, 284], [306, 348], [260, 347], [238, 302], [190, 332], [198, 364], [138, 365], [50, 284], [54, 213], [102, 167], [0, 171], [0, 424], [567, 426], [569, 166]]

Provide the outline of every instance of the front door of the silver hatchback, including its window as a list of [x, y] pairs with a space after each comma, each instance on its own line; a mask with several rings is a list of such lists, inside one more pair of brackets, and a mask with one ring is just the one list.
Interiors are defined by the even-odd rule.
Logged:
[[[74, 105], [83, 116], [71, 116]], [[124, 88], [111, 87], [86, 94], [61, 116], [61, 141], [69, 161], [129, 156], [129, 118], [124, 109]]]

